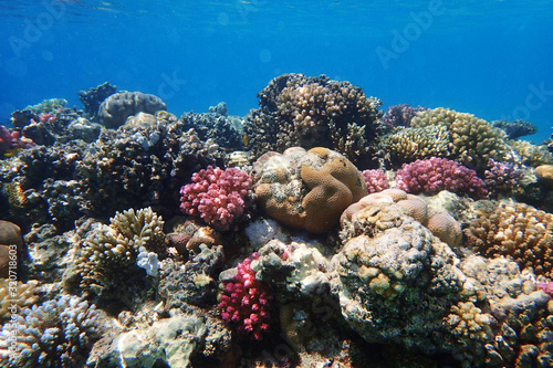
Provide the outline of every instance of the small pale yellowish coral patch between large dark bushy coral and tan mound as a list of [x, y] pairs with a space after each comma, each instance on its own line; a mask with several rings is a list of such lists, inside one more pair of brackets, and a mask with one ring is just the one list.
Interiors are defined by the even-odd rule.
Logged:
[[380, 140], [380, 148], [389, 155], [394, 164], [409, 162], [416, 159], [449, 156], [449, 133], [445, 126], [405, 128], [386, 135]]

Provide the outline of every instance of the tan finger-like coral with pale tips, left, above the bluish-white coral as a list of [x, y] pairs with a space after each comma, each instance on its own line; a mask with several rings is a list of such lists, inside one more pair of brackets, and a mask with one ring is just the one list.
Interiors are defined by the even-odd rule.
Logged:
[[79, 283], [85, 294], [101, 295], [138, 270], [142, 246], [159, 254], [166, 251], [164, 221], [150, 208], [117, 212], [109, 221], [109, 225], [97, 223], [82, 241], [66, 286]]

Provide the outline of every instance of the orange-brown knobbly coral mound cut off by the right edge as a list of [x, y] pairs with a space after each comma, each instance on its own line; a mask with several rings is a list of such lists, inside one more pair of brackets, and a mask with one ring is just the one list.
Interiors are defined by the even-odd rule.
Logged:
[[467, 243], [484, 256], [512, 256], [536, 274], [553, 276], [553, 214], [524, 203], [501, 204], [471, 221]]

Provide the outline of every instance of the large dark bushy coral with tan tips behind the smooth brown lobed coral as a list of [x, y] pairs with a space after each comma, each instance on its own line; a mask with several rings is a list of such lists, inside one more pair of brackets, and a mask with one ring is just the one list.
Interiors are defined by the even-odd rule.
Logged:
[[259, 94], [260, 109], [244, 120], [255, 156], [292, 146], [324, 146], [354, 162], [374, 154], [382, 102], [348, 82], [283, 74]]

